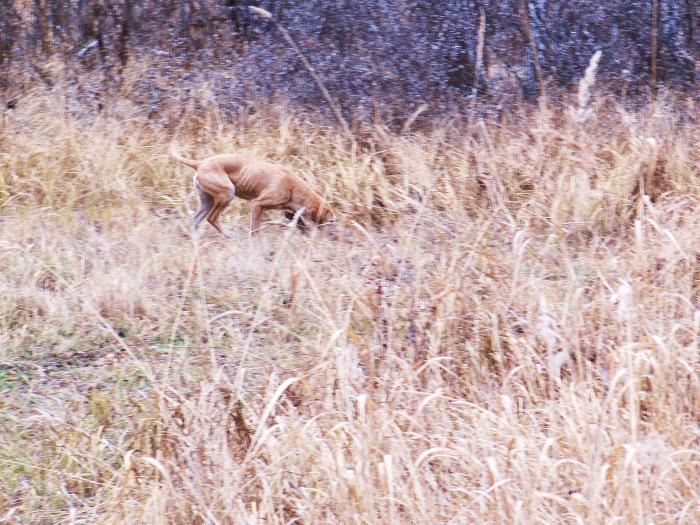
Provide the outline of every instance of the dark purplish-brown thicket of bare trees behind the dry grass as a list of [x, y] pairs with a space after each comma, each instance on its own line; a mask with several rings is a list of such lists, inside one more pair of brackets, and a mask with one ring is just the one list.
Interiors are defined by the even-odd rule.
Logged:
[[[142, 62], [149, 68], [136, 84], [152, 104], [167, 96], [156, 76], [180, 88], [204, 77], [231, 105], [275, 96], [322, 104], [291, 46], [249, 3], [4, 0], [0, 88], [17, 92], [32, 77], [50, 85], [53, 60], [76, 75], [100, 72], [99, 89], [110, 89]], [[662, 87], [692, 93], [700, 74], [695, 0], [257, 5], [289, 31], [346, 114], [424, 102], [449, 110], [473, 97], [534, 101], [573, 89], [598, 49], [599, 78], [618, 93], [648, 96]]]

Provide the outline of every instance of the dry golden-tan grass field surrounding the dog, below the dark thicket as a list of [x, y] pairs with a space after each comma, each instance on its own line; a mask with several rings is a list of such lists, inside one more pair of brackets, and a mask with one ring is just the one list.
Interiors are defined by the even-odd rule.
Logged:
[[[351, 141], [40, 91], [0, 123], [0, 523], [700, 523], [693, 102]], [[340, 237], [193, 236], [163, 122]]]

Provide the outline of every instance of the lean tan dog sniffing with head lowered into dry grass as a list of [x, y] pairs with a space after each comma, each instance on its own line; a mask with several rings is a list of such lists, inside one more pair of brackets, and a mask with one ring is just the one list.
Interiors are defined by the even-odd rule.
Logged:
[[260, 229], [265, 210], [284, 210], [291, 220], [303, 208], [297, 221], [302, 230], [306, 227], [304, 220], [324, 225], [335, 219], [328, 203], [284, 166], [245, 155], [214, 155], [192, 160], [181, 156], [175, 145], [170, 147], [170, 154], [197, 171], [192, 179], [200, 200], [200, 209], [193, 219], [195, 228], [206, 217], [209, 224], [231, 237], [219, 224], [219, 216], [235, 196], [251, 202], [251, 234]]

